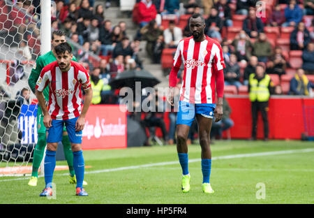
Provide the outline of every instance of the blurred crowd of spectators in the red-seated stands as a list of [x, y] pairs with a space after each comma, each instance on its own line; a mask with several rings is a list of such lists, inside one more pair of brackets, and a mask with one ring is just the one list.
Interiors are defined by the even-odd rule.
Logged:
[[[105, 8], [110, 7], [110, 1], [95, 4], [93, 0], [56, 0], [52, 31], [60, 29], [66, 33], [69, 43], [73, 44], [73, 54], [89, 69], [97, 93], [94, 104], [119, 103], [114, 97], [119, 92], [111, 89], [109, 82], [124, 71], [143, 69], [138, 55], [140, 41], [147, 42], [146, 51], [151, 62], [161, 64], [167, 72], [179, 41], [191, 36], [188, 17], [193, 13], [204, 15], [205, 34], [222, 45], [226, 94], [248, 94], [249, 75], [255, 73], [259, 65], [264, 67], [274, 85], [271, 94], [309, 95], [314, 88], [314, 1], [262, 2], [264, 4], [257, 4], [256, 0], [137, 0], [132, 13], [137, 34], [128, 36], [126, 22], [112, 26], [112, 20], [106, 18]], [[183, 7], [180, 3], [184, 3]], [[33, 59], [31, 51], [36, 52], [38, 45], [38, 4], [39, 1], [17, 0], [16, 7], [8, 13], [14, 17], [13, 27], [16, 27], [10, 31], [21, 34], [22, 37], [15, 41], [27, 60]], [[3, 4], [0, 7], [4, 11]], [[17, 27], [32, 22], [34, 24], [26, 28]], [[170, 51], [169, 56], [165, 51]], [[94, 56], [100, 61], [94, 61]], [[178, 80], [180, 84], [180, 77]], [[174, 142], [175, 116], [172, 112], [169, 116], [169, 132], [155, 114], [144, 119], [144, 126], [160, 127], [163, 139], [171, 144]], [[221, 130], [233, 125], [229, 116], [225, 120], [214, 126], [218, 128], [215, 130], [218, 136], [221, 136]]]

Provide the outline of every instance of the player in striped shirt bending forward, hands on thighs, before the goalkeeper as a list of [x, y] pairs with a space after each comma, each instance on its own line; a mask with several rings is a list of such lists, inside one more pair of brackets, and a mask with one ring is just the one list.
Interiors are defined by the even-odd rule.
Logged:
[[[66, 126], [73, 151], [73, 167], [77, 178], [76, 195], [88, 196], [83, 189], [84, 158], [82, 153], [82, 129], [84, 117], [91, 103], [93, 92], [87, 70], [75, 61], [72, 48], [61, 43], [54, 48], [57, 61], [48, 64], [41, 71], [36, 83], [36, 97], [43, 110], [43, 124], [47, 128], [47, 151], [45, 156], [45, 189], [40, 196], [52, 196], [52, 177], [56, 166], [56, 151]], [[45, 106], [43, 90], [49, 87], [48, 109]], [[82, 92], [85, 92], [82, 108]]]

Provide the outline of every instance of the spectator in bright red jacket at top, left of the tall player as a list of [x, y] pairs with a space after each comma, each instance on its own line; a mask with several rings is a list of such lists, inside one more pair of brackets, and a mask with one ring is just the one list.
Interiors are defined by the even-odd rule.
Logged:
[[151, 20], [155, 20], [157, 10], [154, 3], [151, 0], [142, 0], [138, 4], [138, 21], [140, 28], [149, 24]]

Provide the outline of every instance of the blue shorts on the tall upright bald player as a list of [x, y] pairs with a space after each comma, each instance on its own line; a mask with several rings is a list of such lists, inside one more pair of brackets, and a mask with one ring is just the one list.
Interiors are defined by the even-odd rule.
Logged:
[[186, 124], [190, 126], [195, 115], [199, 114], [210, 119], [214, 118], [215, 103], [188, 103], [179, 101], [179, 110], [177, 112], [177, 124]]

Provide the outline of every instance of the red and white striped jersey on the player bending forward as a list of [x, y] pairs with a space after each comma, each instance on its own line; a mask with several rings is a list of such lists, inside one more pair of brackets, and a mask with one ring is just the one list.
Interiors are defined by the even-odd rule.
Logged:
[[71, 61], [70, 70], [62, 72], [57, 61], [43, 68], [36, 83], [36, 89], [43, 92], [49, 85], [48, 112], [52, 119], [73, 119], [79, 117], [82, 108], [82, 92], [91, 87], [89, 73], [80, 64]]

